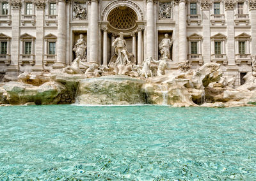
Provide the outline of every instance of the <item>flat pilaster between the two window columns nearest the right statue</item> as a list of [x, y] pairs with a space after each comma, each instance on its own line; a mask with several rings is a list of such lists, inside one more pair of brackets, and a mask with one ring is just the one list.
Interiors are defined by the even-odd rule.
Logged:
[[212, 1], [202, 1], [202, 25], [203, 25], [203, 37], [204, 40], [202, 42], [202, 56], [204, 58], [204, 62], [211, 62], [211, 29], [210, 29], [210, 7], [212, 5]]

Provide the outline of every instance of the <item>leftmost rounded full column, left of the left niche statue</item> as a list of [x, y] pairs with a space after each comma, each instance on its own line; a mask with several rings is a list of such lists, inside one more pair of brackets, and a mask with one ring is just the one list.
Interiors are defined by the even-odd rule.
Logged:
[[57, 62], [53, 68], [64, 68], [66, 65], [66, 1], [58, 0], [58, 43], [57, 43]]

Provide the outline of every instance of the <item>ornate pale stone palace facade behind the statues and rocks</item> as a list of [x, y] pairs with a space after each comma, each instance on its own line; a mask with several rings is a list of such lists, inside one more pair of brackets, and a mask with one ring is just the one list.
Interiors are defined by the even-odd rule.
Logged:
[[158, 60], [168, 34], [169, 71], [186, 60], [193, 68], [218, 62], [226, 76], [236, 76], [236, 86], [252, 71], [256, 55], [255, 0], [0, 2], [1, 75], [64, 68], [76, 58], [81, 40], [84, 61], [108, 65], [120, 32], [137, 64]]

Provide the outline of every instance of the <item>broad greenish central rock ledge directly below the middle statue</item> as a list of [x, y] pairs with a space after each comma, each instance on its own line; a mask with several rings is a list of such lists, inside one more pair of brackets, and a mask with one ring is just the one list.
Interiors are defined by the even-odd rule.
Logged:
[[141, 87], [143, 80], [129, 76], [106, 76], [82, 80], [76, 103], [81, 105], [134, 105], [145, 104]]

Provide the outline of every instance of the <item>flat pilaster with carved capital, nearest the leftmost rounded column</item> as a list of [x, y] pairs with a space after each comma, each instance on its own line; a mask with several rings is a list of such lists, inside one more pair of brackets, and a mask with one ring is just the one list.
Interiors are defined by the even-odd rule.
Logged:
[[[36, 45], [35, 45], [35, 66], [34, 71], [42, 71], [44, 60], [44, 7], [45, 3], [35, 1], [36, 5]], [[46, 45], [47, 46], [47, 45]], [[47, 48], [47, 47], [45, 47]]]

